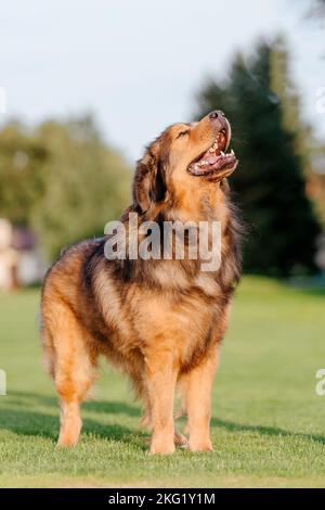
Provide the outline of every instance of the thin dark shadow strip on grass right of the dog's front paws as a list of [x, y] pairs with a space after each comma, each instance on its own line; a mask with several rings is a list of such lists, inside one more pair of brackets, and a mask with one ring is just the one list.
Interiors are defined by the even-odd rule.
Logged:
[[312, 439], [316, 443], [325, 445], [325, 436], [320, 434], [306, 434], [301, 432], [289, 432], [284, 431], [277, 426], [264, 426], [264, 425], [245, 425], [240, 423], [234, 423], [232, 421], [220, 420], [218, 418], [211, 419], [211, 426], [221, 426], [229, 432], [257, 432], [261, 435], [269, 436], [284, 436], [284, 437], [296, 437], [301, 439]]

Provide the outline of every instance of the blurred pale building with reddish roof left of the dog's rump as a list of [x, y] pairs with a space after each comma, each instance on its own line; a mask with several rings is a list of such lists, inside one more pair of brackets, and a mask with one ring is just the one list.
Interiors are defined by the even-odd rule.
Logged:
[[0, 218], [0, 290], [36, 283], [43, 272], [35, 234]]

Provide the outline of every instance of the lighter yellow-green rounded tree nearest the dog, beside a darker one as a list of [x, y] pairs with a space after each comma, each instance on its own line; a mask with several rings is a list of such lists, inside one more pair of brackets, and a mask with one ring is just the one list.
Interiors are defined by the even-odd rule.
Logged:
[[130, 173], [121, 156], [104, 145], [90, 117], [44, 123], [38, 137], [50, 157], [31, 225], [53, 257], [66, 244], [103, 235], [105, 224], [128, 205]]

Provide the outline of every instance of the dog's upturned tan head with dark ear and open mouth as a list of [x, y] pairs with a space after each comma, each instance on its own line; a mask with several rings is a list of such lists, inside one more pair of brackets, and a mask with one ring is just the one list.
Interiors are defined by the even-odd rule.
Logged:
[[180, 202], [229, 177], [238, 163], [233, 151], [226, 153], [230, 140], [231, 126], [221, 111], [167, 128], [138, 162], [134, 204], [145, 212], [170, 199]]

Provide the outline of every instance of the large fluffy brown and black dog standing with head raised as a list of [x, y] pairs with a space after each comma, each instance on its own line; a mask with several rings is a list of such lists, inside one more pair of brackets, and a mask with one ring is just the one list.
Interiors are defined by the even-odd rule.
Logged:
[[[169, 258], [132, 258], [129, 232], [123, 258], [105, 256], [112, 235], [104, 235], [67, 248], [48, 271], [41, 335], [60, 396], [58, 446], [77, 444], [80, 404], [104, 355], [130, 378], [143, 401], [151, 454], [172, 454], [176, 444], [212, 450], [211, 388], [242, 258], [240, 222], [227, 183], [238, 161], [226, 152], [230, 140], [221, 111], [168, 127], [138, 162], [132, 205], [121, 218], [127, 230], [130, 214], [136, 215], [139, 241], [145, 239], [145, 222], [218, 221], [220, 267], [203, 270], [203, 260], [188, 256], [188, 235], [183, 258], [173, 256], [174, 242]], [[174, 428], [177, 388], [188, 437]]]

